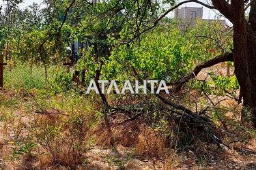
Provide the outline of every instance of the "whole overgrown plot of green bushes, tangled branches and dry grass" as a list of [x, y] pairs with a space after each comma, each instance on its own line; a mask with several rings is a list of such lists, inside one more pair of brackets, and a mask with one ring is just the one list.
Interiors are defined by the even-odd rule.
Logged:
[[[0, 13], [0, 169], [255, 167], [233, 29], [180, 27], [175, 1], [18, 3]], [[170, 94], [87, 94], [90, 80], [165, 80]]]

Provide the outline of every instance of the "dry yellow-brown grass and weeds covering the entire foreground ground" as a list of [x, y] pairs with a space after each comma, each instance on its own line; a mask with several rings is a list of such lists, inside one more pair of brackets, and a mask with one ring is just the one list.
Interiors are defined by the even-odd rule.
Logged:
[[[173, 146], [167, 145], [167, 138], [140, 119], [119, 124], [124, 118], [117, 115], [110, 118], [109, 124], [101, 121], [98, 126], [88, 126], [94, 121], [90, 117], [94, 113], [87, 113], [85, 110], [78, 110], [75, 114], [68, 109], [61, 110], [70, 116], [28, 114], [24, 105], [31, 102], [29, 95], [21, 90], [18, 94], [23, 95], [23, 100], [16, 105], [16, 99], [20, 98], [15, 94], [8, 92], [2, 98], [2, 102], [8, 104], [8, 107], [3, 107], [0, 111], [0, 115], [4, 114], [7, 118], [1, 122], [1, 134], [5, 132], [5, 139], [0, 135], [0, 158], [4, 165], [12, 164], [18, 168], [26, 166], [30, 169], [60, 169], [61, 166], [75, 169], [77, 165], [82, 169], [235, 169], [253, 167], [255, 163], [255, 133], [238, 124], [238, 113], [235, 112], [238, 107], [233, 101], [227, 100], [227, 105], [219, 105], [233, 107], [234, 110], [226, 112], [223, 120], [218, 120], [221, 123], [216, 133], [232, 148], [229, 152], [223, 152], [216, 145], [196, 136], [193, 143], [178, 146], [174, 150]], [[57, 102], [62, 100], [62, 97], [57, 97]], [[226, 122], [225, 126], [222, 122]], [[184, 128], [186, 124], [181, 126]], [[171, 127], [177, 130], [177, 126], [169, 125], [170, 129]], [[11, 147], [14, 146], [10, 141], [13, 141], [14, 130], [18, 132], [20, 129], [23, 132], [19, 133], [20, 137], [33, 134], [36, 139], [33, 140], [39, 146], [33, 148], [30, 159], [22, 155], [18, 160], [10, 160]], [[201, 132], [194, 134], [203, 135]], [[186, 134], [179, 135], [179, 139], [188, 138]]]

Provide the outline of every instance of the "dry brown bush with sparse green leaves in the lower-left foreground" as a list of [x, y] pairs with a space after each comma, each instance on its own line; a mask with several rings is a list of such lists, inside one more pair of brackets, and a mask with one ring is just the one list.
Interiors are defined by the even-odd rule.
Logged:
[[51, 114], [40, 115], [35, 119], [34, 135], [42, 149], [49, 154], [48, 159], [44, 156], [40, 158], [40, 166], [53, 163], [75, 167], [83, 163], [83, 154], [86, 152], [85, 135], [88, 131], [87, 120], [72, 122], [70, 117]]

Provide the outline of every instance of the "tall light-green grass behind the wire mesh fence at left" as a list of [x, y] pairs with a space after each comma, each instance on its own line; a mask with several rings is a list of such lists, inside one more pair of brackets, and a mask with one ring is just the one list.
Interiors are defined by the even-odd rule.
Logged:
[[5, 89], [35, 88], [48, 89], [53, 92], [63, 92], [72, 87], [73, 70], [61, 65], [50, 65], [46, 68], [47, 78], [43, 65], [29, 65], [28, 63], [16, 63], [5, 67], [3, 81]]

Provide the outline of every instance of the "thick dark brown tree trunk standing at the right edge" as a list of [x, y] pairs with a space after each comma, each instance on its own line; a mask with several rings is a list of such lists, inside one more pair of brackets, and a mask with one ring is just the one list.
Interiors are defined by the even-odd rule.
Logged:
[[236, 10], [233, 23], [235, 73], [243, 97], [242, 122], [256, 126], [256, 5], [251, 6], [248, 22], [244, 18], [243, 6]]

